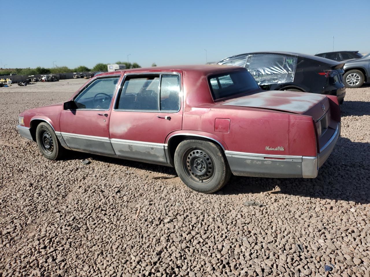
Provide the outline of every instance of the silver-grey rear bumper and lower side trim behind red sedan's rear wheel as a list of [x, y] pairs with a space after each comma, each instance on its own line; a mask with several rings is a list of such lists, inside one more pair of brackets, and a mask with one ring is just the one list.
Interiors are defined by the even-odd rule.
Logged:
[[266, 155], [225, 151], [234, 175], [269, 178], [316, 178], [319, 168], [332, 153], [340, 135], [340, 123], [316, 157]]

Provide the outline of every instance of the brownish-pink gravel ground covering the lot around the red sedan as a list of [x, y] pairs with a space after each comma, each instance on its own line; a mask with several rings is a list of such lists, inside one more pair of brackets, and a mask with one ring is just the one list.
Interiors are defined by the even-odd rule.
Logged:
[[369, 277], [369, 85], [347, 89], [342, 137], [316, 179], [232, 177], [205, 195], [158, 178], [172, 168], [53, 162], [19, 136], [20, 112], [83, 82], [0, 88], [0, 277]]

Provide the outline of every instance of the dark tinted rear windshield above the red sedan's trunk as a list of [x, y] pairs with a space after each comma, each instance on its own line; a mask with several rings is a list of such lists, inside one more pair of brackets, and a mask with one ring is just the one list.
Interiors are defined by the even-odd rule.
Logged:
[[248, 71], [234, 71], [208, 77], [214, 100], [238, 95], [259, 89], [255, 79]]

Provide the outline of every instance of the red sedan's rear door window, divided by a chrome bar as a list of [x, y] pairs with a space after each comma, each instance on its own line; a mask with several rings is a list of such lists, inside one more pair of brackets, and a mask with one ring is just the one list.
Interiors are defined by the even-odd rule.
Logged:
[[177, 112], [180, 107], [179, 93], [178, 75], [127, 76], [116, 109]]

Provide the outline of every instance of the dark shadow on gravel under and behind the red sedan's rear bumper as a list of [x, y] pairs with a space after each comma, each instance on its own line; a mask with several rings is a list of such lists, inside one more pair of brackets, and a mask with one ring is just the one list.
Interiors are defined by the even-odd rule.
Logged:
[[315, 179], [253, 178], [233, 176], [223, 194], [272, 191], [310, 198], [370, 203], [370, 143], [340, 137], [336, 148]]

